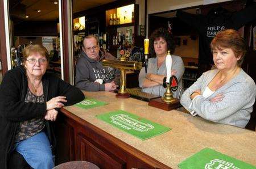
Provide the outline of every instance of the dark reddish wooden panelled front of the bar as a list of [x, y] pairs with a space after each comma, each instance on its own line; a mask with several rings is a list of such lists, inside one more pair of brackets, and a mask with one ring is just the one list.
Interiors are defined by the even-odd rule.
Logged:
[[[65, 111], [56, 121], [56, 165], [71, 160], [85, 160], [100, 168], [170, 168], [148, 157], [137, 158], [126, 150], [128, 145], [119, 145], [108, 133]], [[68, 115], [68, 116], [67, 116]], [[70, 116], [69, 116], [70, 115]], [[136, 150], [135, 150], [136, 151]]]

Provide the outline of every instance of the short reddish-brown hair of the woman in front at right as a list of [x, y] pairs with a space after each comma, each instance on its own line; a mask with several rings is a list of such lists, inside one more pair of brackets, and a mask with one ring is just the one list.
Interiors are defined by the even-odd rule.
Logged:
[[243, 40], [240, 33], [234, 29], [226, 29], [225, 31], [218, 32], [210, 43], [210, 48], [212, 50], [231, 48], [236, 58], [241, 57], [240, 60], [237, 61], [238, 66], [242, 65], [246, 53], [245, 40]]

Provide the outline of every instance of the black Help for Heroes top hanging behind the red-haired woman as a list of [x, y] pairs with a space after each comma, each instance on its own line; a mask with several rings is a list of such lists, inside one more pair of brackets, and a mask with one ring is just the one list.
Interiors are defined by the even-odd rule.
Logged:
[[223, 29], [238, 30], [246, 23], [256, 18], [256, 3], [237, 12], [218, 7], [212, 9], [207, 15], [189, 14], [177, 11], [177, 18], [197, 29], [199, 33], [199, 64], [213, 64], [210, 42], [218, 31]]

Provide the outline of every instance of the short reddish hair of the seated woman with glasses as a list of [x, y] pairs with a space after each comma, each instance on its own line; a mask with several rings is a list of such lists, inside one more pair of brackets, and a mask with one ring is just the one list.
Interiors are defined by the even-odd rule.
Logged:
[[49, 61], [49, 53], [43, 45], [27, 45], [26, 48], [24, 48], [22, 54], [23, 54], [23, 65], [24, 62], [27, 60], [27, 57], [34, 53], [40, 53], [42, 56], [46, 57], [47, 61]]

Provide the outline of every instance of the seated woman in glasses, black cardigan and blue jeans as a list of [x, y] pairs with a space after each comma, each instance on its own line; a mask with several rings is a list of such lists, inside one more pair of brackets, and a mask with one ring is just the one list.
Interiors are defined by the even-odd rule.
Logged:
[[49, 56], [42, 45], [28, 45], [23, 57], [23, 66], [8, 71], [0, 86], [0, 166], [7, 168], [18, 152], [32, 168], [52, 168], [52, 121], [59, 108], [80, 102], [84, 94], [46, 74]]

